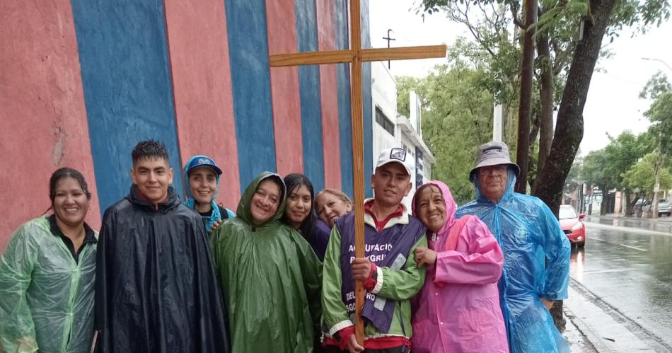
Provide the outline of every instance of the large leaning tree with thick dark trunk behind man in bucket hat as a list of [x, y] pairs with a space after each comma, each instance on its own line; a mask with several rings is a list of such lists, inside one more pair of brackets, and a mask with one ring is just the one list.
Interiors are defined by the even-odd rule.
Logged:
[[[494, 45], [499, 45], [501, 38], [508, 37], [506, 26], [511, 22], [519, 28], [523, 26], [519, 19], [519, 1], [423, 0], [421, 4], [421, 11], [446, 11], [451, 18], [468, 25], [475, 41], [492, 57], [498, 54], [492, 49]], [[539, 164], [543, 168], [538, 170], [538, 182], [535, 183], [533, 194], [557, 213], [564, 179], [583, 137], [582, 112], [591, 76], [601, 54], [603, 37], [606, 35], [614, 40], [625, 26], [644, 32], [649, 25], [659, 25], [669, 18], [670, 4], [669, 1], [660, 0], [622, 0], [618, 1], [617, 6], [615, 0], [567, 0], [542, 1], [540, 6], [541, 15], [535, 24], [536, 31], [540, 35], [548, 35], [550, 56], [555, 58], [553, 67], [557, 69], [555, 73], [559, 74], [555, 76], [554, 83], [557, 85], [558, 79], [564, 79], [564, 85], [550, 151], [547, 154], [544, 149], [540, 149]], [[478, 22], [470, 19], [474, 17], [470, 17], [470, 10], [483, 20]], [[507, 12], [510, 12], [510, 16], [504, 16]], [[488, 29], [495, 34], [488, 36]], [[493, 37], [495, 40], [492, 40]], [[540, 54], [540, 57], [543, 56]], [[566, 66], [567, 62], [569, 66]], [[563, 71], [566, 71], [566, 79], [561, 74]], [[544, 100], [548, 105], [548, 99]], [[548, 109], [540, 111], [548, 112]], [[548, 124], [544, 126], [548, 127]], [[546, 139], [548, 141], [548, 137]]]

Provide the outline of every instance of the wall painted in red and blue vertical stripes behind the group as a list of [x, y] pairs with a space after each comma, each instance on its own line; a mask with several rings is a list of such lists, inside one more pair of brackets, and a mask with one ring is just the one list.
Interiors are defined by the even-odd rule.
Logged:
[[[143, 139], [166, 144], [180, 194], [182, 163], [214, 157], [231, 209], [262, 170], [352, 195], [349, 66], [268, 66], [268, 54], [347, 48], [347, 0], [0, 2], [0, 158], [11, 166], [0, 187], [17, 200], [0, 203], [0, 249], [45, 212], [59, 166], [84, 173], [88, 221], [100, 226], [100, 210], [129, 190]], [[368, 64], [363, 76], [371, 156]], [[368, 180], [370, 158], [365, 168]]]

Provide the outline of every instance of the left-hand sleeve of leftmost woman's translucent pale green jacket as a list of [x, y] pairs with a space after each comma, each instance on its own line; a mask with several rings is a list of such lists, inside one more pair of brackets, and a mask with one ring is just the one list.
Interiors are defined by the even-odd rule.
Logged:
[[0, 257], [0, 338], [4, 353], [35, 352], [35, 325], [25, 291], [30, 286], [37, 250], [25, 224]]

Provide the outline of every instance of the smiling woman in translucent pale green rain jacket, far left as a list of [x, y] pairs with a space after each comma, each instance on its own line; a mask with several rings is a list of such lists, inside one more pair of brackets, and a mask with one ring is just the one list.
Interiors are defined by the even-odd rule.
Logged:
[[50, 179], [54, 213], [16, 230], [0, 257], [2, 352], [90, 352], [95, 233], [84, 218], [91, 192], [77, 170]]

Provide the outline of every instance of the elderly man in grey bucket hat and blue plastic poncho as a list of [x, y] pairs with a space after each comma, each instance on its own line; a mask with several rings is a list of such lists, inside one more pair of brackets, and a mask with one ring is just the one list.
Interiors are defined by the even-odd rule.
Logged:
[[480, 146], [469, 174], [476, 199], [458, 217], [478, 216], [504, 252], [499, 301], [510, 351], [569, 352], [548, 312], [553, 301], [567, 299], [569, 241], [546, 204], [514, 192], [519, 173], [506, 144]]

